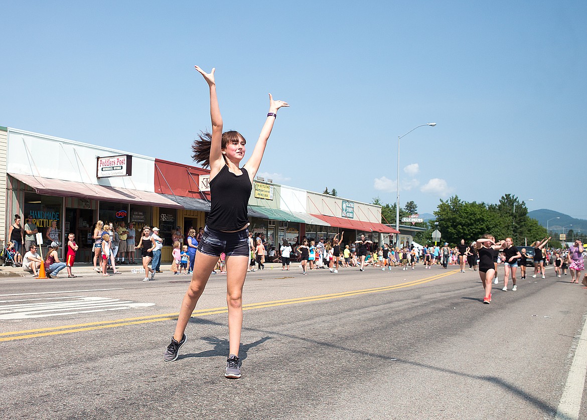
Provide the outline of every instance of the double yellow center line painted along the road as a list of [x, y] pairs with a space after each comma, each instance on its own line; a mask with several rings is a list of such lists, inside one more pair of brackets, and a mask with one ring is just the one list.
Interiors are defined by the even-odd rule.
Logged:
[[[413, 281], [407, 281], [406, 283], [400, 283], [400, 284], [383, 286], [383, 287], [374, 287], [374, 288], [369, 288], [369, 289], [352, 290], [352, 291], [346, 291], [346, 292], [340, 292], [340, 293], [329, 293], [329, 294], [323, 294], [323, 295], [317, 295], [317, 296], [282, 299], [282, 300], [275, 300], [275, 301], [268, 301], [268, 302], [246, 304], [246, 305], [242, 306], [242, 310], [247, 311], [247, 310], [252, 310], [252, 309], [261, 309], [261, 308], [275, 307], [275, 306], [281, 306], [281, 305], [291, 305], [291, 304], [315, 302], [315, 301], [321, 301], [321, 300], [338, 299], [338, 298], [350, 297], [350, 296], [367, 294], [367, 293], [379, 293], [379, 292], [383, 292], [383, 291], [396, 290], [396, 289], [400, 289], [400, 288], [404, 288], [404, 287], [412, 287], [414, 285], [429, 283], [430, 281], [439, 280], [440, 278], [447, 277], [448, 275], [452, 275], [457, 272], [458, 272], [457, 270], [446, 271], [442, 274], [433, 275], [431, 277], [420, 278], [420, 279], [413, 280]], [[228, 312], [227, 307], [209, 308], [209, 309], [196, 310], [192, 313], [192, 316], [193, 317], [194, 316], [203, 317], [205, 315], [224, 314], [227, 312]], [[63, 325], [61, 327], [36, 328], [35, 330], [3, 332], [3, 333], [0, 333], [0, 341], [23, 340], [25, 338], [46, 337], [49, 335], [70, 334], [73, 332], [102, 330], [103, 328], [123, 327], [126, 325], [147, 324], [149, 322], [177, 320], [178, 315], [179, 315], [178, 313], [158, 314], [158, 315], [149, 315], [146, 317], [124, 318], [121, 320], [113, 320], [113, 321], [97, 321], [97, 322], [87, 322], [85, 324]]]

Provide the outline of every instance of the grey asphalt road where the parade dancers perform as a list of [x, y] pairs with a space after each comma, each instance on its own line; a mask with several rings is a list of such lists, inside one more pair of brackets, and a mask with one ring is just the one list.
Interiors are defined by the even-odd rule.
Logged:
[[175, 362], [187, 275], [141, 278], [0, 280], [2, 418], [552, 419], [568, 395], [578, 414], [559, 418], [587, 418], [587, 290], [570, 275], [500, 282], [484, 305], [477, 273], [452, 267], [249, 273], [238, 380], [225, 275]]

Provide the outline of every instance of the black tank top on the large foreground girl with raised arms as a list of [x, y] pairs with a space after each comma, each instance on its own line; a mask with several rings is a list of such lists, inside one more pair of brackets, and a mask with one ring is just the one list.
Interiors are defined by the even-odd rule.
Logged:
[[224, 165], [210, 181], [210, 214], [206, 224], [211, 229], [233, 231], [249, 222], [247, 205], [251, 197], [251, 180], [246, 169], [235, 175]]

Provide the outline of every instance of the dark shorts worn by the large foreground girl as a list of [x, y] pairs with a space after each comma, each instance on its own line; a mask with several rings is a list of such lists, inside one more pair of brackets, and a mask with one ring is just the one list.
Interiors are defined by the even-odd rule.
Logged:
[[212, 257], [220, 257], [221, 253], [225, 253], [227, 257], [238, 255], [250, 258], [249, 230], [222, 232], [205, 226], [202, 240], [198, 243], [198, 252]]

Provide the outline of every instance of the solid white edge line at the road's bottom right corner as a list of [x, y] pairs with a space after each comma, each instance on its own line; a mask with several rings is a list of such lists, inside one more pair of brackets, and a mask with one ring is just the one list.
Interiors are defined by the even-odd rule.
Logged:
[[581, 397], [585, 387], [587, 372], [587, 317], [583, 317], [583, 330], [577, 342], [577, 348], [569, 375], [566, 377], [565, 388], [556, 410], [556, 420], [577, 420], [581, 409]]

